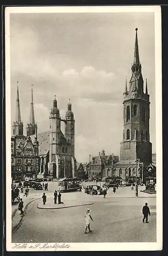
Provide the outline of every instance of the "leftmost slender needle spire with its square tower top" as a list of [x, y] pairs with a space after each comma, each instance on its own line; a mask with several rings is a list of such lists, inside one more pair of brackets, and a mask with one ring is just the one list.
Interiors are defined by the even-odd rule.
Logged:
[[20, 115], [19, 89], [17, 82], [17, 97], [16, 97], [16, 120], [13, 122], [13, 135], [23, 136], [23, 123]]

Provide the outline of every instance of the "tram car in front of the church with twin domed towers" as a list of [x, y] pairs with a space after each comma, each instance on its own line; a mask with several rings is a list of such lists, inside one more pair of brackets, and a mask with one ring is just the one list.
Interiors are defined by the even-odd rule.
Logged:
[[61, 192], [77, 191], [80, 188], [80, 178], [62, 178], [59, 180], [58, 186]]

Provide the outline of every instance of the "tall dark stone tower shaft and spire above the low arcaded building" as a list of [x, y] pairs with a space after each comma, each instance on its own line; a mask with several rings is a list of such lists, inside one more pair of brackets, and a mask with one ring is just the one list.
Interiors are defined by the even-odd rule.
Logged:
[[137, 28], [135, 35], [134, 60], [131, 66], [129, 88], [127, 80], [124, 92], [123, 119], [124, 131], [121, 142], [120, 160], [140, 159], [151, 163], [152, 143], [150, 142], [149, 120], [150, 100], [146, 80], [146, 92], [143, 92], [143, 78], [139, 61]]

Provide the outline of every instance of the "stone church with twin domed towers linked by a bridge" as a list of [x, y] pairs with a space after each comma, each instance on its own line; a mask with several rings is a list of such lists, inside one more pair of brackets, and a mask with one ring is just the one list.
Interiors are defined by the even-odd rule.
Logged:
[[[49, 131], [37, 135], [40, 157], [38, 177], [75, 177], [75, 119], [71, 103], [67, 105], [65, 118], [61, 119], [55, 96], [49, 119]], [[64, 134], [61, 131], [61, 121], [65, 123]], [[34, 137], [35, 135], [31, 136]]]

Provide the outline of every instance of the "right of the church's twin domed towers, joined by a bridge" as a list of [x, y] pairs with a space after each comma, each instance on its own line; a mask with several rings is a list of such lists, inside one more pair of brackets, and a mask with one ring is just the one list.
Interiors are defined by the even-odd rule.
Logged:
[[65, 114], [65, 138], [71, 144], [71, 156], [75, 154], [75, 120], [74, 113], [71, 111], [71, 103], [69, 100], [68, 110]]

